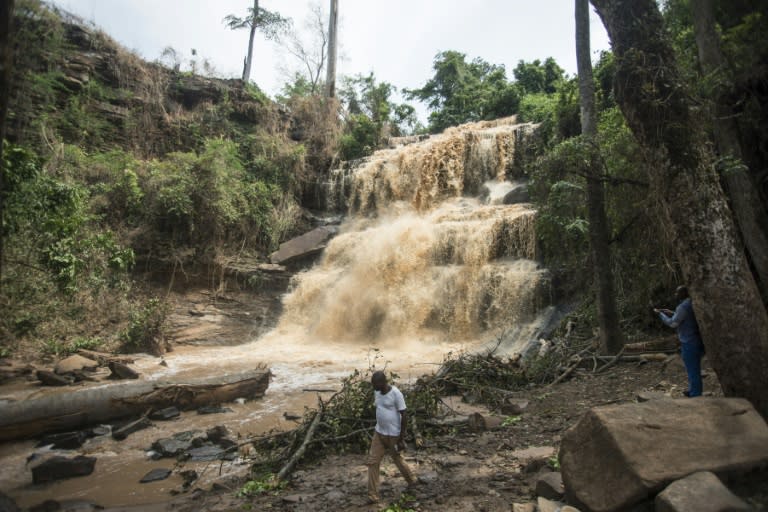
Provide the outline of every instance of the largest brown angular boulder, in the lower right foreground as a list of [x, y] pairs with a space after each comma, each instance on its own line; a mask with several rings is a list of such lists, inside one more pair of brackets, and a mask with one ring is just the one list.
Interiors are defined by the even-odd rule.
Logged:
[[738, 398], [596, 407], [560, 447], [567, 495], [594, 512], [627, 510], [697, 471], [728, 474], [766, 462], [768, 426]]

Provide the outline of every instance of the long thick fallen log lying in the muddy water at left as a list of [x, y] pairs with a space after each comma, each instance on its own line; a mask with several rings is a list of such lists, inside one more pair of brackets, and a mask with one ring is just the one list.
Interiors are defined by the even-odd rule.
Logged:
[[[187, 382], [131, 381], [61, 391], [38, 398], [0, 402], [0, 441], [76, 429], [174, 405], [188, 410], [236, 398], [261, 397], [269, 387], [266, 367]], [[71, 390], [71, 391], [70, 391]]]

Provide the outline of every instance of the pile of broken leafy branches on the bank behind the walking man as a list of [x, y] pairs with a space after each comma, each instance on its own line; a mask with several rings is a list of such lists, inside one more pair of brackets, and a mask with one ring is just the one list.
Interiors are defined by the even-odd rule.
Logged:
[[[582, 371], [589, 362], [594, 363], [592, 373], [600, 373], [627, 357], [598, 356], [592, 340], [569, 342], [560, 338], [549, 350], [527, 359], [501, 357], [495, 349], [449, 355], [435, 374], [423, 376], [412, 385], [398, 385], [398, 376], [391, 372], [388, 380], [403, 391], [408, 405], [407, 437], [420, 447], [424, 438], [452, 428], [435, 421], [450, 411], [443, 407], [441, 397], [460, 395], [465, 401], [495, 409], [510, 393], [531, 384], [555, 384], [577, 368]], [[256, 455], [253, 473], [276, 475], [281, 481], [299, 460], [317, 460], [331, 453], [365, 453], [376, 423], [370, 382], [374, 370], [355, 370], [330, 398], [318, 395], [317, 408], [308, 408], [295, 429], [248, 440]]]

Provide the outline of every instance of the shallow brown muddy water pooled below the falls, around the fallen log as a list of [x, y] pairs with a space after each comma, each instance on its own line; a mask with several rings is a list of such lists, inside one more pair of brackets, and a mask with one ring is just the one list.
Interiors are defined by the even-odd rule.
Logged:
[[[444, 350], [464, 348], [460, 344], [445, 344], [439, 348], [404, 352], [398, 345], [376, 350], [325, 341], [297, 342], [296, 339], [278, 329], [258, 342], [237, 347], [178, 347], [165, 356], [167, 367], [159, 365], [158, 358], [140, 356], [134, 366], [143, 378], [165, 381], [184, 381], [202, 375], [242, 371], [263, 361], [279, 362], [270, 364], [274, 376], [266, 395], [243, 404], [224, 404], [232, 409], [231, 413], [199, 415], [195, 411], [185, 412], [178, 420], [156, 421], [152, 427], [131, 434], [123, 441], [115, 441], [108, 435], [100, 436], [89, 439], [82, 448], [73, 451], [36, 448], [35, 441], [4, 443], [0, 445], [0, 490], [23, 508], [48, 499], [84, 500], [103, 507], [168, 501], [172, 493], [182, 489], [181, 470], [194, 469], [200, 475], [194, 486], [208, 488], [222, 476], [246, 475], [249, 464], [243, 456], [225, 462], [187, 461], [183, 467], [177, 466], [175, 459], [151, 460], [147, 452], [156, 439], [217, 425], [226, 426], [232, 438], [245, 438], [273, 429], [290, 429], [296, 423], [286, 420], [284, 413], [301, 415], [305, 407], [317, 404], [317, 393], [305, 392], [304, 389], [338, 389], [341, 379], [355, 368], [365, 369], [374, 364], [380, 368], [388, 366], [404, 380], [411, 380], [433, 371], [441, 361]], [[4, 390], [3, 397], [23, 399], [24, 396], [44, 392], [46, 390], [40, 388], [19, 387]], [[323, 394], [328, 396], [329, 393]], [[32, 454], [47, 453], [96, 457], [95, 470], [87, 477], [33, 485], [27, 458]], [[166, 480], [140, 484], [139, 480], [155, 468], [173, 469], [174, 472]]]

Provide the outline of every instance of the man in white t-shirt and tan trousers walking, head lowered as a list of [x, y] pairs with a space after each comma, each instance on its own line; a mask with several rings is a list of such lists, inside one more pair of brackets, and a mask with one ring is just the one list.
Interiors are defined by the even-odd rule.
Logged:
[[373, 433], [371, 449], [368, 452], [368, 499], [379, 501], [379, 465], [384, 455], [389, 454], [409, 486], [416, 484], [416, 477], [403, 460], [400, 451], [405, 449], [405, 399], [395, 386], [387, 383], [384, 372], [371, 376], [376, 403], [376, 430]]

